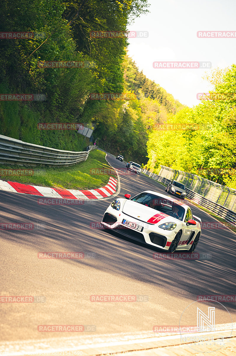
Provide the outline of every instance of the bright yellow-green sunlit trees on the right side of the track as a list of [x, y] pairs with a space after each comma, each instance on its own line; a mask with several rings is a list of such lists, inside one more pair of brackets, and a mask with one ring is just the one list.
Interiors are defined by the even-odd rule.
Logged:
[[[148, 166], [192, 172], [236, 188], [236, 65], [215, 70], [208, 80], [214, 90], [194, 108], [170, 115], [169, 128], [153, 130], [148, 141]], [[167, 128], [167, 126], [166, 126]]]

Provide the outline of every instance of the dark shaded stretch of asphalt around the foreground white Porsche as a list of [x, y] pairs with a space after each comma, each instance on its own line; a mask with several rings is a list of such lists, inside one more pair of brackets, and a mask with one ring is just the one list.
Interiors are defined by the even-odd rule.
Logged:
[[[115, 168], [125, 167], [125, 162], [117, 162], [112, 157], [108, 160]], [[125, 193], [133, 196], [149, 189], [165, 194], [164, 187], [146, 176], [124, 174], [124, 177], [121, 175], [120, 178], [120, 198], [124, 197]], [[36, 225], [33, 230], [0, 230], [1, 238], [26, 248], [33, 248], [35, 258], [38, 252], [93, 252], [94, 258], [66, 261], [153, 283], [155, 287], [166, 288], [169, 294], [178, 293], [185, 297], [188, 295], [193, 300], [197, 300], [199, 294], [236, 294], [236, 239], [233, 232], [219, 228], [202, 230], [196, 252], [210, 253], [212, 258], [209, 260], [154, 260], [153, 252], [157, 251], [155, 248], [143, 246], [116, 232], [90, 227], [91, 222], [100, 223], [106, 207], [113, 199], [78, 206], [45, 206], [37, 203], [38, 197], [0, 192], [1, 224]], [[202, 221], [215, 223], [215, 220], [203, 211], [192, 206], [191, 208], [193, 214], [199, 216]], [[235, 303], [225, 304], [235, 309]]]

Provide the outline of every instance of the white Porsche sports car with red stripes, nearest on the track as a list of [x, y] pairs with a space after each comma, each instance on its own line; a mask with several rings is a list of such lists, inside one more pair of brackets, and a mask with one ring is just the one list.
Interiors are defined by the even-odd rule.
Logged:
[[202, 222], [190, 207], [168, 195], [147, 190], [132, 199], [117, 198], [106, 209], [101, 225], [168, 252], [197, 247]]

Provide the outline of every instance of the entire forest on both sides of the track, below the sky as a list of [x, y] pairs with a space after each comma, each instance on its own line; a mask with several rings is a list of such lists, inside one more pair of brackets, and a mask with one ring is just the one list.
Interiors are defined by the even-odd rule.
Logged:
[[[44, 33], [0, 41], [0, 93], [44, 94], [45, 101], [0, 101], [0, 133], [23, 141], [80, 151], [76, 131], [38, 130], [39, 122], [93, 125], [93, 140], [113, 154], [197, 173], [236, 187], [236, 66], [207, 79], [224, 98], [181, 105], [139, 72], [126, 54], [128, 38], [94, 38], [91, 31], [127, 31], [147, 0], [3, 0], [0, 31]], [[44, 68], [38, 61], [80, 61], [82, 68]], [[90, 93], [133, 93], [132, 99], [90, 100]], [[231, 95], [230, 95], [231, 94]], [[233, 95], [234, 94], [234, 95]], [[177, 131], [158, 124], [191, 124]], [[195, 126], [193, 125], [195, 124]], [[148, 161], [149, 158], [149, 161]]]

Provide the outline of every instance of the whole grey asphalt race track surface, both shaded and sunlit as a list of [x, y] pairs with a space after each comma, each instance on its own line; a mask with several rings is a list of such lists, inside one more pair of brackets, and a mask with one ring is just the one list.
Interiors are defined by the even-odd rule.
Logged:
[[[125, 162], [109, 155], [107, 159], [113, 167], [125, 168]], [[120, 183], [120, 198], [147, 189], [165, 194], [162, 185], [143, 174], [120, 174]], [[236, 294], [236, 234], [230, 230], [202, 230], [196, 252], [208, 254], [205, 259], [155, 260], [156, 250], [115, 232], [90, 227], [100, 223], [114, 197], [73, 206], [39, 205], [37, 200], [35, 196], [0, 192], [1, 224], [34, 224], [33, 230], [0, 230], [1, 295], [38, 296], [42, 300], [1, 303], [1, 340], [68, 335], [39, 332], [37, 326], [45, 324], [95, 325], [95, 334], [150, 331], [154, 325], [179, 325], [183, 310], [198, 295]], [[216, 223], [202, 210], [191, 208], [203, 223]], [[55, 251], [83, 252], [85, 257], [38, 258], [38, 252]], [[90, 295], [97, 294], [145, 295], [148, 301], [90, 302]], [[223, 305], [235, 321], [236, 302]], [[219, 311], [216, 324], [225, 323], [224, 318]], [[192, 325], [192, 320], [188, 322]]]

